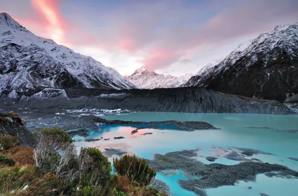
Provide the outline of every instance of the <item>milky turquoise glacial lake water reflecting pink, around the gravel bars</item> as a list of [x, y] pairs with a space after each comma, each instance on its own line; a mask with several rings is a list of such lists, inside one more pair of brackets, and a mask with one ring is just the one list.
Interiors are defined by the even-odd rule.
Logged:
[[[205, 121], [217, 130], [156, 130], [141, 129], [131, 134], [135, 126], [103, 126], [101, 132], [90, 130], [89, 139], [109, 138], [85, 142], [85, 137], [75, 135], [73, 139], [78, 149], [81, 146], [97, 146], [104, 151], [105, 148], [115, 148], [136, 154], [141, 158], [153, 159], [154, 154], [165, 154], [180, 150], [199, 149], [197, 159], [205, 164], [221, 163], [227, 165], [238, 164], [239, 161], [229, 160], [221, 155], [220, 149], [249, 148], [270, 153], [272, 155], [258, 154], [250, 158], [260, 159], [262, 162], [285, 165], [298, 171], [298, 161], [289, 157], [298, 158], [298, 133], [289, 130], [298, 130], [298, 116], [263, 115], [263, 114], [196, 114], [196, 113], [171, 113], [171, 112], [135, 112], [100, 116], [107, 120], [125, 121]], [[152, 133], [152, 134], [146, 134]], [[144, 135], [145, 134], [145, 135]], [[124, 139], [113, 139], [123, 136]], [[81, 140], [81, 141], [79, 141]], [[214, 162], [206, 160], [205, 156], [217, 156]], [[112, 155], [110, 160], [116, 155]], [[156, 179], [163, 180], [169, 185], [171, 192], [176, 195], [197, 195], [192, 191], [182, 189], [177, 183], [178, 179], [187, 180], [183, 171], [173, 173], [157, 173]], [[266, 177], [257, 175], [255, 182], [236, 183], [235, 186], [221, 186], [205, 189], [209, 196], [215, 195], [260, 195], [266, 193], [270, 196], [297, 195], [298, 179]], [[248, 189], [247, 187], [251, 187]]]

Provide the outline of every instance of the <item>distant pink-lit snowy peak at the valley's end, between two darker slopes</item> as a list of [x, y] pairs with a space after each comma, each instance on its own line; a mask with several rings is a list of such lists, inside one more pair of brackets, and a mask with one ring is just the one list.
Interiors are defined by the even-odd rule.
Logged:
[[186, 74], [184, 76], [175, 77], [171, 75], [156, 74], [154, 71], [148, 71], [141, 67], [136, 69], [132, 75], [126, 76], [132, 84], [137, 88], [153, 89], [153, 88], [176, 88], [186, 83], [193, 75]]

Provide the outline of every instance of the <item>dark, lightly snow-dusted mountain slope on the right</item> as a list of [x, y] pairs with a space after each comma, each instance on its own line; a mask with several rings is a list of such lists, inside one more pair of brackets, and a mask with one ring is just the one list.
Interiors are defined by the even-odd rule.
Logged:
[[182, 86], [278, 101], [298, 99], [298, 23], [239, 45], [214, 67], [207, 67]]

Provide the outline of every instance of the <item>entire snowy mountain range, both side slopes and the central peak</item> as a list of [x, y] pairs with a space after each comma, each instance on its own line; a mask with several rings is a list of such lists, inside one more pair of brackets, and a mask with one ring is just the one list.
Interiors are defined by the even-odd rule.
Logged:
[[67, 96], [61, 89], [70, 88], [188, 86], [258, 99], [298, 100], [298, 23], [262, 33], [194, 75], [165, 76], [142, 67], [124, 78], [91, 57], [35, 36], [7, 13], [0, 14], [0, 99], [17, 100], [38, 93], [45, 96], [48, 92]]

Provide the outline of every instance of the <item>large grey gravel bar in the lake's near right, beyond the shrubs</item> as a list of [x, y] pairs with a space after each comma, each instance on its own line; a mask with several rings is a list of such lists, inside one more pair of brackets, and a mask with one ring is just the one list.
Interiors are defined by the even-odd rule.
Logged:
[[[242, 150], [267, 154], [253, 149]], [[285, 166], [251, 161], [235, 151], [232, 152], [232, 155], [236, 153], [236, 158], [240, 157], [242, 161], [244, 160], [245, 162], [240, 162], [236, 165], [223, 165], [219, 163], [203, 164], [194, 158], [198, 156], [198, 151], [199, 150], [184, 150], [166, 153], [165, 155], [155, 154], [153, 160], [147, 161], [149, 166], [153, 167], [158, 172], [168, 169], [180, 169], [187, 175], [198, 176], [199, 179], [178, 180], [178, 183], [182, 188], [194, 191], [201, 196], [207, 195], [204, 189], [234, 185], [240, 180], [245, 182], [255, 181], [258, 174], [281, 178], [289, 178], [289, 176], [298, 178], [296, 171]], [[230, 156], [228, 157], [230, 158]], [[272, 171], [279, 171], [279, 173], [278, 175], [273, 175]]]

